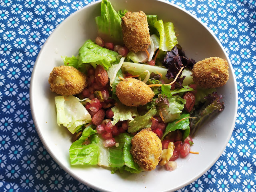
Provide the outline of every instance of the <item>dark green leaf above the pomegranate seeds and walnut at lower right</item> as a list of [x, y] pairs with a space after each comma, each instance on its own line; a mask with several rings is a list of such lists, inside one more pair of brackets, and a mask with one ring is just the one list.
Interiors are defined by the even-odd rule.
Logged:
[[[164, 140], [164, 137], [172, 131], [182, 130], [183, 131], [182, 140], [184, 141], [184, 139], [186, 139], [190, 133], [189, 118], [186, 118], [186, 117], [189, 117], [189, 114], [183, 113], [183, 114], [181, 114], [181, 116], [178, 120], [168, 123], [161, 140]], [[186, 118], [186, 119], [181, 120], [183, 118]], [[178, 122], [179, 120], [181, 120], [181, 121]], [[178, 122], [178, 123], [176, 123], [176, 122]]]

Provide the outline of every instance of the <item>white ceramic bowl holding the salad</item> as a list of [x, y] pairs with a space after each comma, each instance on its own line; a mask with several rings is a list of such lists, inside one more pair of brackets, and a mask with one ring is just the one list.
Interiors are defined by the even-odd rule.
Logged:
[[[31, 78], [30, 105], [36, 130], [44, 146], [54, 160], [80, 182], [100, 191], [113, 192], [167, 192], [182, 188], [204, 174], [220, 157], [230, 139], [237, 112], [237, 90], [232, 66], [224, 48], [216, 37], [194, 16], [178, 6], [155, 0], [112, 0], [115, 10], [144, 11], [156, 14], [158, 19], [174, 23], [179, 44], [188, 57], [199, 61], [211, 56], [228, 60], [230, 77], [225, 86], [218, 89], [225, 102], [225, 109], [201, 128], [194, 138], [192, 151], [177, 160], [173, 172], [157, 168], [140, 174], [111, 174], [98, 166], [71, 166], [69, 148], [71, 135], [56, 123], [54, 96], [48, 84], [54, 66], [63, 65], [60, 56], [78, 54], [78, 49], [88, 39], [96, 38], [95, 17], [100, 15], [100, 2], [78, 10], [64, 20], [42, 47]], [[136, 5], [136, 6], [135, 6]]]

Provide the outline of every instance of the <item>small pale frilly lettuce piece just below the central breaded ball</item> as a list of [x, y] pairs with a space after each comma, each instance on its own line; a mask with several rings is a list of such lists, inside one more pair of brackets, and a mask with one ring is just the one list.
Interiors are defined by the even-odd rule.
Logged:
[[114, 113], [114, 120], [111, 121], [113, 125], [118, 121], [130, 120], [132, 122], [134, 120], [133, 116], [138, 115], [136, 107], [129, 107], [120, 102], [118, 102], [116, 106], [112, 107], [111, 110]]

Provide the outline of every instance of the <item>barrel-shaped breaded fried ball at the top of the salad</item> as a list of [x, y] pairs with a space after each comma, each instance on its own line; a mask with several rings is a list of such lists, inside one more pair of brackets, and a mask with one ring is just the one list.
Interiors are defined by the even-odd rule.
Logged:
[[124, 44], [130, 51], [144, 51], [150, 45], [148, 20], [143, 11], [126, 12], [122, 17], [122, 32]]

